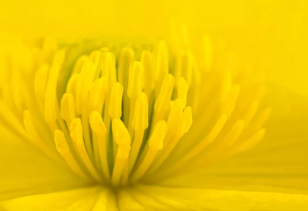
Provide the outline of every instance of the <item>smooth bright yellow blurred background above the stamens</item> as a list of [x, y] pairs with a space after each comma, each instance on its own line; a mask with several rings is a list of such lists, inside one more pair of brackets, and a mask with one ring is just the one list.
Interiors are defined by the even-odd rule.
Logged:
[[0, 30], [17, 34], [163, 37], [170, 24], [223, 36], [269, 78], [308, 94], [308, 1], [0, 1]]

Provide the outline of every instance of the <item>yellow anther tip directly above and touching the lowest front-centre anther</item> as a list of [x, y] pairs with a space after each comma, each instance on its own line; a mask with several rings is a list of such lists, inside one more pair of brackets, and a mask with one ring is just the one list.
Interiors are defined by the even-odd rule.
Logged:
[[112, 120], [112, 132], [118, 145], [130, 143], [129, 132], [121, 119], [115, 118]]

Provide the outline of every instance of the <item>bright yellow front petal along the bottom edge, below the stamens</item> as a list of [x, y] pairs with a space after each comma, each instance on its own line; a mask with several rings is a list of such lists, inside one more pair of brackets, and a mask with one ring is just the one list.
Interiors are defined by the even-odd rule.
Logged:
[[308, 196], [275, 192], [139, 185], [113, 193], [101, 187], [33, 195], [4, 201], [0, 208], [19, 210], [305, 210]]

